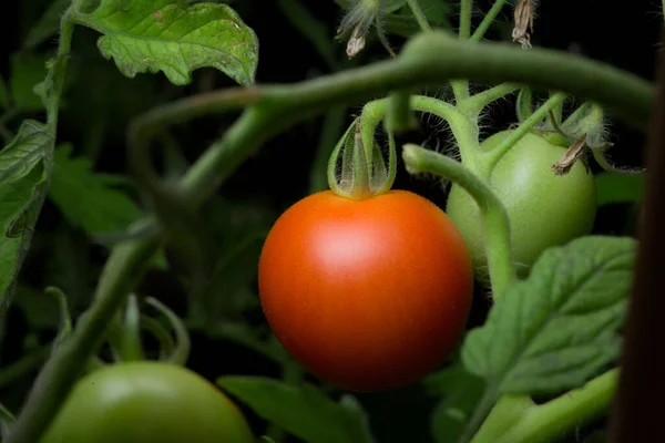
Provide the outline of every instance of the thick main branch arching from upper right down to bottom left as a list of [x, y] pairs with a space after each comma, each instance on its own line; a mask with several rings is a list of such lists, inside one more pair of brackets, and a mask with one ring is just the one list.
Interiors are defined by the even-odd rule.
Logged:
[[[393, 60], [290, 85], [233, 89], [218, 93], [217, 101], [209, 94], [196, 95], [154, 111], [152, 119], [142, 123], [154, 125], [154, 130], [202, 115], [202, 106], [213, 112], [254, 103], [181, 181], [185, 196], [196, 205], [212, 195], [262, 143], [298, 122], [387, 91], [464, 78], [565, 91], [613, 109], [624, 122], [640, 130], [645, 128], [654, 102], [654, 87], [648, 82], [608, 64], [562, 51], [522, 51], [507, 44], [459, 41], [446, 32], [431, 31], [413, 38]], [[502, 217], [498, 218], [501, 223]], [[113, 248], [86, 321], [74, 328], [44, 365], [6, 443], [33, 443], [47, 429], [102, 339], [109, 319], [134, 289], [147, 260], [160, 247], [155, 226], [152, 217], [145, 218], [139, 227], [153, 230], [146, 229], [144, 238]]]

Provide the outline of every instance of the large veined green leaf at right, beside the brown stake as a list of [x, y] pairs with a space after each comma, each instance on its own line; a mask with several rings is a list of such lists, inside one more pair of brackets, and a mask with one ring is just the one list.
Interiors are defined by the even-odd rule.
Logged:
[[462, 361], [499, 394], [582, 385], [620, 352], [636, 240], [590, 236], [546, 250], [467, 336]]

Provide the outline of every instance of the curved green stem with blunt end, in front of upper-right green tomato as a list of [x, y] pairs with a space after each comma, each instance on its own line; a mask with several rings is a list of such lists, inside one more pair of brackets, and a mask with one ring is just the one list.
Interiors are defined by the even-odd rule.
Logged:
[[403, 146], [410, 174], [430, 173], [464, 188], [478, 203], [487, 235], [487, 254], [493, 297], [498, 299], [516, 278], [510, 247], [510, 222], [503, 204], [485, 183], [459, 162], [413, 144]]

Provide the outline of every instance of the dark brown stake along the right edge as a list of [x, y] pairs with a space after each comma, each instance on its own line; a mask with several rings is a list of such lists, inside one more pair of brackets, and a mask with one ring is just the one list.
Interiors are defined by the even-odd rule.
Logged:
[[[663, 33], [665, 41], [665, 32]], [[665, 53], [646, 144], [648, 175], [644, 224], [633, 282], [622, 373], [610, 423], [610, 443], [665, 442]]]

